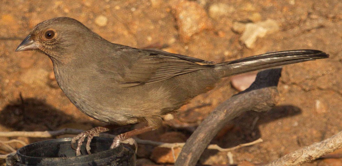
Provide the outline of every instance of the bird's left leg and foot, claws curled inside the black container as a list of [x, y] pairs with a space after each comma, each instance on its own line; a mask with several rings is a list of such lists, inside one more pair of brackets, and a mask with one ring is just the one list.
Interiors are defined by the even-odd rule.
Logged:
[[[87, 137], [87, 144], [86, 144], [86, 150], [88, 154], [90, 153], [90, 142], [93, 137], [98, 136], [101, 132], [108, 131], [110, 129], [115, 128], [114, 125], [106, 125], [106, 126], [100, 126], [100, 127], [95, 127], [90, 130], [81, 132], [79, 135], [71, 139], [71, 148], [76, 150], [76, 156], [81, 155], [81, 145], [84, 139]], [[78, 141], [77, 141], [78, 140]], [[74, 143], [77, 141], [77, 148], [75, 148]]]

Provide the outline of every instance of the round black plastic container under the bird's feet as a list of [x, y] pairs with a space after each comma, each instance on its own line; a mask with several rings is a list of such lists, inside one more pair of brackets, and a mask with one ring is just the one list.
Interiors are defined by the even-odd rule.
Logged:
[[71, 148], [71, 138], [53, 139], [26, 145], [17, 150], [16, 154], [6, 158], [7, 165], [13, 166], [135, 166], [135, 151], [122, 144], [115, 149], [109, 149], [113, 138], [94, 137], [90, 144], [88, 155], [85, 147], [87, 139], [81, 146], [81, 156], [76, 156]]

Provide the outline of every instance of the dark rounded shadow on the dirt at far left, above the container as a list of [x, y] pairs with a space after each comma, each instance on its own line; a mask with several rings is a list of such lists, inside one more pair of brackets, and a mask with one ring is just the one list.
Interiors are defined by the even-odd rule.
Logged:
[[0, 112], [0, 124], [15, 131], [56, 130], [72, 122], [77, 119], [35, 98], [12, 101]]

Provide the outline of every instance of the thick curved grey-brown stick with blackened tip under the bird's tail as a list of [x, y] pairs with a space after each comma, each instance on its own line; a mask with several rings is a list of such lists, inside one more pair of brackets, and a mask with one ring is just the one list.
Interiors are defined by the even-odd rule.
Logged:
[[281, 69], [268, 69], [258, 73], [253, 84], [224, 101], [198, 126], [186, 141], [175, 166], [193, 166], [218, 131], [230, 120], [246, 111], [270, 110], [278, 97], [277, 85]]

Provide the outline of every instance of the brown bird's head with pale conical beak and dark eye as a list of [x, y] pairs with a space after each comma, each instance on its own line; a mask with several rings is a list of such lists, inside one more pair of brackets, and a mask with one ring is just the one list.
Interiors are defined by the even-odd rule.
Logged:
[[37, 50], [60, 61], [93, 40], [103, 39], [73, 18], [56, 17], [37, 24], [15, 51]]

